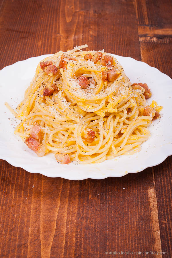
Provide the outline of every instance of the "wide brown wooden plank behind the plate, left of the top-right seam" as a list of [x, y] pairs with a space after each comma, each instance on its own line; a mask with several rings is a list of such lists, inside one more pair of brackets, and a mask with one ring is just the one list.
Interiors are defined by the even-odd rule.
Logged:
[[[89, 49], [105, 48], [107, 52], [140, 59], [132, 1], [125, 5], [110, 0], [87, 1], [87, 4], [75, 1], [71, 5], [68, 1], [23, 1], [18, 6], [19, 1], [7, 0], [1, 8], [0, 69], [31, 56], [55, 53], [60, 47], [67, 50], [85, 43]], [[34, 9], [39, 10], [39, 15]], [[66, 18], [69, 14], [70, 21]]]

